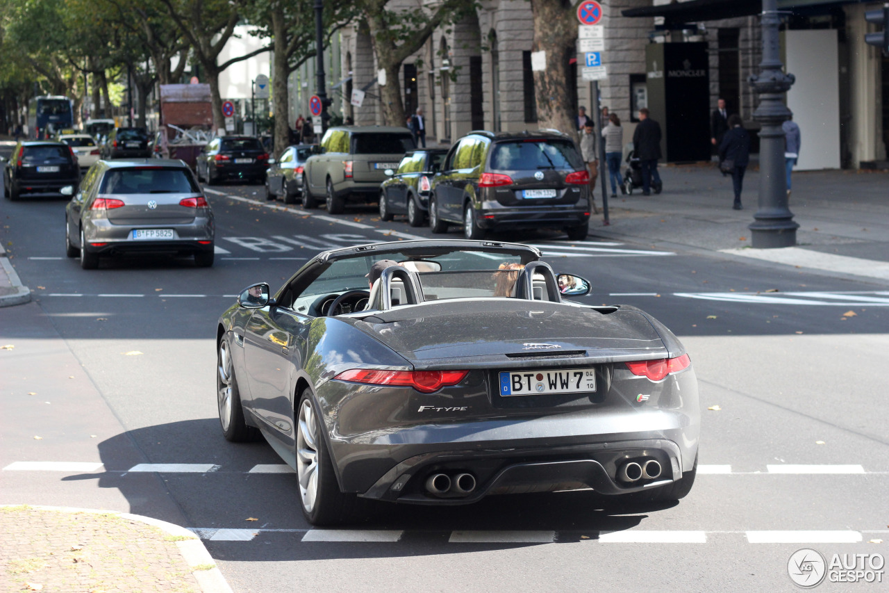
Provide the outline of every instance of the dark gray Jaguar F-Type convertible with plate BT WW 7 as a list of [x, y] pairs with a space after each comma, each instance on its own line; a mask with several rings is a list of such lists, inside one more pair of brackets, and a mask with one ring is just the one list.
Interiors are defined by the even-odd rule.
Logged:
[[220, 317], [222, 432], [268, 440], [311, 524], [348, 520], [359, 498], [681, 499], [701, 427], [688, 353], [636, 307], [565, 300], [589, 291], [526, 245], [325, 251]]

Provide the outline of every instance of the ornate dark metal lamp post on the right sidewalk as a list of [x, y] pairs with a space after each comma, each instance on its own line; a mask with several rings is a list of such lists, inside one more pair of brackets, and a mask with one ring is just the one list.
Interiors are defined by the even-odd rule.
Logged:
[[781, 70], [777, 0], [763, 0], [763, 61], [760, 73], [749, 78], [759, 93], [759, 107], [753, 118], [762, 124], [759, 132], [759, 200], [749, 229], [754, 248], [782, 248], [797, 244], [799, 224], [787, 207], [787, 180], [784, 166], [784, 130], [781, 124], [791, 113], [784, 105], [796, 78]]

